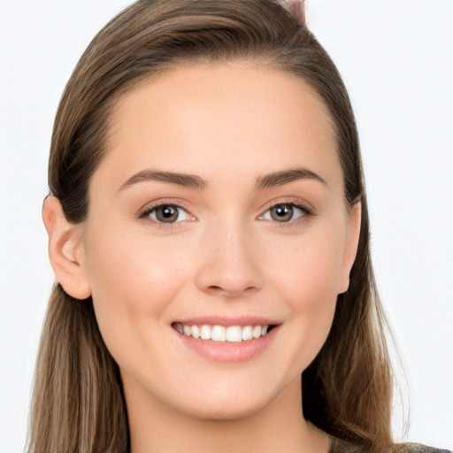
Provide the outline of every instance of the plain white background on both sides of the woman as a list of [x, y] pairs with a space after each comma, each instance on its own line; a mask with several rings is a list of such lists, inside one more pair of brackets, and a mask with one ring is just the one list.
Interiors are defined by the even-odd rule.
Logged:
[[[357, 116], [375, 271], [411, 397], [408, 439], [453, 448], [453, 1], [308, 1]], [[41, 204], [58, 99], [88, 42], [129, 3], [0, 0], [2, 453], [23, 450], [53, 278]]]

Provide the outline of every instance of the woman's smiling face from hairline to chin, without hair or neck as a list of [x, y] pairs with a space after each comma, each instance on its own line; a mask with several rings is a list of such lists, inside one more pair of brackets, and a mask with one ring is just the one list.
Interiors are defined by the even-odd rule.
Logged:
[[127, 401], [234, 418], [298, 386], [348, 286], [356, 217], [295, 76], [184, 66], [124, 95], [81, 265]]

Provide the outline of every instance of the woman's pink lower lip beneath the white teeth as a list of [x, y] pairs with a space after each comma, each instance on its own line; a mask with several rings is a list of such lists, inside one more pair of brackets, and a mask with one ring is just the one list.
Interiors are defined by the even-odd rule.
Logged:
[[237, 364], [247, 362], [259, 356], [273, 342], [277, 333], [278, 326], [273, 327], [271, 332], [257, 339], [246, 342], [213, 342], [212, 340], [200, 340], [192, 336], [180, 334], [180, 341], [198, 355], [211, 360], [226, 364]]

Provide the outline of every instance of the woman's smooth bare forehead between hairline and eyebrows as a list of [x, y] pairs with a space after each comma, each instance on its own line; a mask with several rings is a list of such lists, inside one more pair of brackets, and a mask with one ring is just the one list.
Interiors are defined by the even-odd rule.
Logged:
[[335, 149], [325, 104], [296, 76], [257, 65], [181, 65], [119, 98], [98, 170], [126, 176], [158, 167], [207, 180], [295, 166], [338, 173]]

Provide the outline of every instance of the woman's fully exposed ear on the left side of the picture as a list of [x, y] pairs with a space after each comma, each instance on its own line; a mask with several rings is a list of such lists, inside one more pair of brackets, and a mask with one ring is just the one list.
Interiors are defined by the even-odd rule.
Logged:
[[48, 196], [44, 200], [42, 220], [49, 235], [50, 265], [58, 283], [69, 296], [86, 299], [91, 296], [91, 289], [81, 262], [81, 224], [66, 220], [61, 203], [55, 196]]

